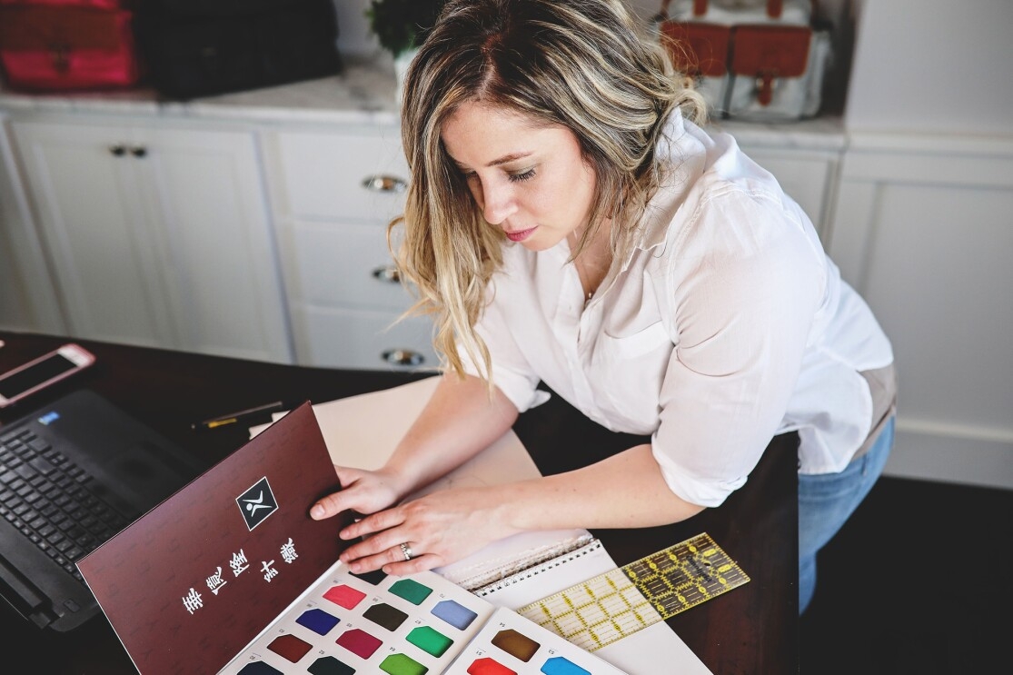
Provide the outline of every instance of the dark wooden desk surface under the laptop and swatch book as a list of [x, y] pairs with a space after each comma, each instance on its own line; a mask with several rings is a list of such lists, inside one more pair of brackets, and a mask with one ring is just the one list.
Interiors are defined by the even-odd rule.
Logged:
[[[7, 343], [0, 348], [0, 372], [69, 342], [3, 331], [0, 340]], [[194, 433], [190, 431], [194, 421], [277, 399], [288, 404], [323, 402], [424, 376], [302, 368], [78, 342], [95, 354], [95, 366], [0, 413], [0, 424], [71, 389], [89, 388], [211, 466], [246, 442], [247, 427]], [[636, 441], [590, 423], [558, 396], [523, 415], [515, 430], [543, 473], [593, 461]], [[747, 484], [720, 508], [677, 525], [595, 532], [619, 565], [708, 532], [746, 571], [752, 579], [749, 584], [669, 619], [715, 675], [798, 672], [796, 444], [794, 435], [775, 438]], [[112, 629], [100, 618], [79, 631], [59, 635], [40, 631], [9, 607], [0, 606], [0, 635], [7, 658], [16, 651], [32, 672], [136, 673]], [[665, 655], [657, 659], [657, 672], [667, 672]]]

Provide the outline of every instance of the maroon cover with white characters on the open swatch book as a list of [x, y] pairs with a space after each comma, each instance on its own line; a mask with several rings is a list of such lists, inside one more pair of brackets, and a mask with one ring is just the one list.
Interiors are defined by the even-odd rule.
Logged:
[[217, 673], [337, 560], [338, 488], [303, 403], [78, 568], [141, 673]]

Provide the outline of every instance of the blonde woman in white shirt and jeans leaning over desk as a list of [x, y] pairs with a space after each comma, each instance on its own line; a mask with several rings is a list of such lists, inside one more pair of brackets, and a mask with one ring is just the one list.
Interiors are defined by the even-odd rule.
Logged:
[[[377, 471], [353, 572], [445, 566], [530, 529], [647, 527], [720, 505], [798, 430], [800, 608], [815, 551], [892, 442], [889, 342], [811, 223], [618, 0], [452, 0], [407, 74], [399, 265], [445, 356]], [[650, 436], [579, 470], [399, 504], [542, 402]], [[815, 482], [810, 485], [809, 481]]]

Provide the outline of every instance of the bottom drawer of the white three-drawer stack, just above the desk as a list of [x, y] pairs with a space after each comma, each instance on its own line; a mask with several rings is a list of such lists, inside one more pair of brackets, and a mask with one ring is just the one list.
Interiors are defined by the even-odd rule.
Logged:
[[[432, 322], [411, 317], [392, 325], [396, 312], [366, 309], [295, 308], [303, 324], [299, 361], [314, 366], [368, 370], [417, 370], [439, 366], [433, 350]], [[415, 365], [395, 363], [398, 356], [418, 355]]]

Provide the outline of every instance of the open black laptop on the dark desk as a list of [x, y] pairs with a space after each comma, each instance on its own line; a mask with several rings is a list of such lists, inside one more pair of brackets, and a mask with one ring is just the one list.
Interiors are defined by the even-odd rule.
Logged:
[[81, 389], [0, 427], [0, 596], [40, 627], [100, 613], [75, 561], [206, 467]]

